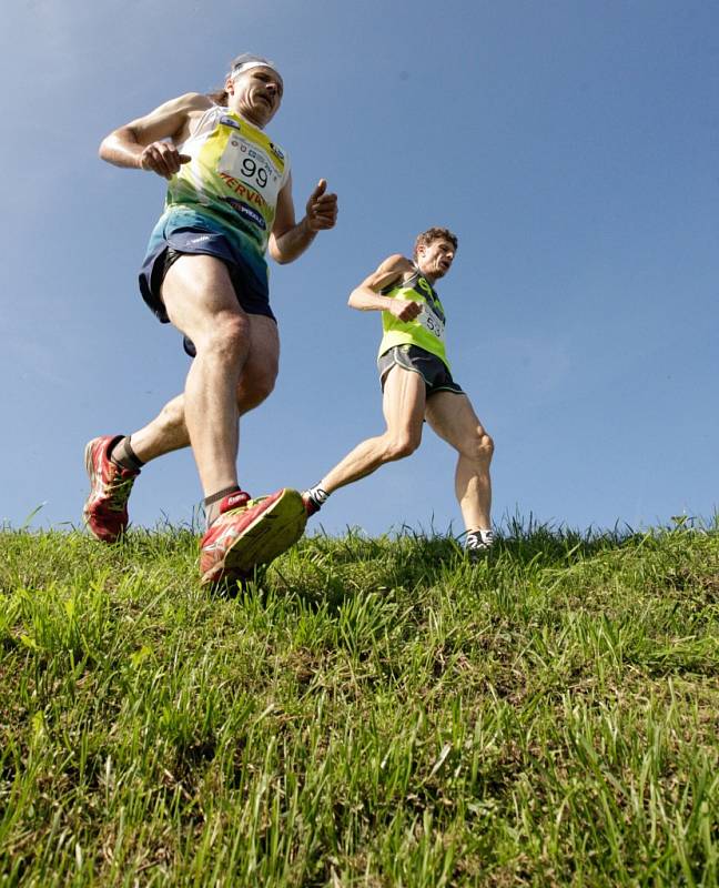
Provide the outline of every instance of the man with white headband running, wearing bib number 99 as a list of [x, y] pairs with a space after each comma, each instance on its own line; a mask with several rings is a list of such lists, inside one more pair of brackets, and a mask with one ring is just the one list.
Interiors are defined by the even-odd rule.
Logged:
[[98, 539], [114, 543], [128, 527], [128, 497], [141, 466], [191, 446], [207, 519], [203, 583], [242, 578], [291, 545], [306, 521], [296, 491], [250, 500], [236, 466], [239, 417], [264, 401], [277, 373], [265, 251], [293, 262], [337, 215], [336, 195], [321, 180], [295, 220], [288, 160], [264, 132], [282, 93], [273, 62], [239, 56], [223, 90], [172, 99], [111, 132], [100, 148], [110, 163], [168, 180], [140, 289], [196, 356], [184, 394], [146, 426], [88, 443], [83, 517]]

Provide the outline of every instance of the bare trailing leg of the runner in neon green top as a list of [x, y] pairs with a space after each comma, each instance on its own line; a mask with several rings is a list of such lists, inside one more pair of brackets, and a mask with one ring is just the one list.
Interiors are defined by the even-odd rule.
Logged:
[[418, 373], [394, 366], [382, 402], [387, 430], [358, 444], [320, 482], [328, 494], [372, 474], [384, 463], [402, 460], [419, 446], [425, 384]]

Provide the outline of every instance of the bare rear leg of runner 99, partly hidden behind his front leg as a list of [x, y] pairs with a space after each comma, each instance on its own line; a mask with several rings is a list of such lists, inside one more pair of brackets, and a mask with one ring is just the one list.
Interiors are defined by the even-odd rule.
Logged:
[[[250, 354], [242, 369], [235, 395], [240, 416], [262, 404], [272, 392], [280, 356], [280, 336], [275, 322], [260, 314], [250, 314], [247, 320]], [[143, 463], [190, 446], [184, 397], [184, 394], [173, 397], [154, 420], [132, 433], [132, 450]]]

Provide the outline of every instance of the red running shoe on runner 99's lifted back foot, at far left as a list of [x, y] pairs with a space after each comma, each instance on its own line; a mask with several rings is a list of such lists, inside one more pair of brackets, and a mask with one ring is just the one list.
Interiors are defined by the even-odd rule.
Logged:
[[102, 543], [115, 543], [128, 529], [128, 500], [140, 472], [123, 468], [108, 456], [122, 435], [103, 435], [88, 442], [85, 468], [90, 495], [82, 509], [90, 533]]

